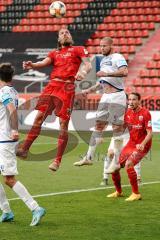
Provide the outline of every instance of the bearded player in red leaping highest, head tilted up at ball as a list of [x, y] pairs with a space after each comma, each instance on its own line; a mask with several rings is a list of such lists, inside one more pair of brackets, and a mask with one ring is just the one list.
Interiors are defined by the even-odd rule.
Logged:
[[[81, 63], [83, 66], [80, 68]], [[44, 88], [36, 106], [38, 113], [33, 126], [23, 144], [17, 149], [17, 156], [25, 158], [33, 141], [41, 131], [41, 125], [54, 110], [60, 120], [60, 133], [55, 160], [49, 169], [56, 171], [59, 168], [62, 155], [68, 142], [68, 123], [75, 96], [75, 80], [83, 80], [91, 70], [88, 52], [82, 46], [73, 46], [73, 39], [68, 29], [62, 28], [58, 33], [58, 49], [51, 51], [48, 56], [39, 62], [23, 62], [24, 69], [38, 69], [48, 65], [53, 66], [50, 82]]]

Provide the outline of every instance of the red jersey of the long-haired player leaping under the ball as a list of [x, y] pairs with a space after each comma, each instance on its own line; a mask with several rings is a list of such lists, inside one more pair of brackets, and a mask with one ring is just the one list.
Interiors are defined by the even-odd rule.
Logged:
[[69, 46], [60, 50], [53, 50], [48, 54], [53, 63], [50, 79], [75, 80], [75, 75], [81, 64], [81, 59], [87, 57], [88, 52], [82, 46]]

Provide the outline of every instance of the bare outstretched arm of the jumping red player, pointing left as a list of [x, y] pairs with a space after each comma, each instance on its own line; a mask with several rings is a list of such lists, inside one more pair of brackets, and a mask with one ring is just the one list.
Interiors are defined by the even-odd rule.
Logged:
[[37, 69], [42, 68], [50, 65], [52, 60], [49, 57], [46, 57], [42, 61], [38, 61], [36, 63], [33, 63], [32, 61], [24, 61], [23, 62], [23, 69], [29, 70], [29, 69]]

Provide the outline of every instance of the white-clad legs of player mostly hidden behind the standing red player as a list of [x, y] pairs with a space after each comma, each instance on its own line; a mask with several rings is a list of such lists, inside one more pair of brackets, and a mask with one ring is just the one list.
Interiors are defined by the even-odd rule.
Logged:
[[[129, 140], [128, 131], [125, 131], [124, 134], [121, 135], [121, 138], [122, 138], [122, 148], [123, 148]], [[108, 169], [109, 165], [111, 164], [113, 157], [114, 157], [114, 138], [112, 137], [111, 141], [110, 141], [110, 144], [109, 144], [109, 147], [108, 147], [107, 156], [104, 159], [103, 180], [100, 183], [101, 186], [108, 185], [109, 174], [106, 173], [106, 170]], [[137, 181], [140, 184], [141, 183], [141, 163], [139, 162], [138, 164], [136, 164], [134, 166], [134, 169], [137, 173]]]

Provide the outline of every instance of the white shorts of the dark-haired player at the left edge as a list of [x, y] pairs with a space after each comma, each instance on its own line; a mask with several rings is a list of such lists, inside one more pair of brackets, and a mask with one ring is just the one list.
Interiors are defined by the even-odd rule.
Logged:
[[0, 143], [0, 173], [3, 176], [17, 175], [16, 149], [17, 142]]

